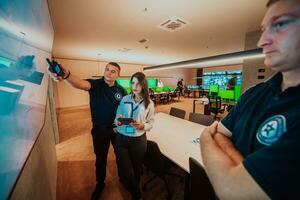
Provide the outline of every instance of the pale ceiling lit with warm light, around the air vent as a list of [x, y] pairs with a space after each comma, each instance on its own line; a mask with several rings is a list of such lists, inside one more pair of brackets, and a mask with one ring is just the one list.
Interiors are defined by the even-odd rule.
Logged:
[[[245, 34], [259, 29], [266, 9], [266, 0], [48, 0], [48, 3], [55, 32], [54, 57], [143, 65], [243, 51]], [[190, 24], [175, 32], [157, 28], [172, 16]], [[149, 41], [140, 44], [142, 38]], [[131, 50], [118, 50], [124, 48]]]

